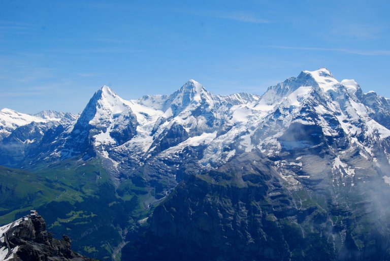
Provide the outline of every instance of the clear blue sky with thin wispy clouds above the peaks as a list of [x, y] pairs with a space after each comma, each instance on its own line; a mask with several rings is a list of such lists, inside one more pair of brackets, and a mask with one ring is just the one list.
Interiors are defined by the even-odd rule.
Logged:
[[109, 85], [124, 99], [262, 94], [327, 67], [390, 97], [389, 1], [0, 0], [0, 108], [77, 113]]

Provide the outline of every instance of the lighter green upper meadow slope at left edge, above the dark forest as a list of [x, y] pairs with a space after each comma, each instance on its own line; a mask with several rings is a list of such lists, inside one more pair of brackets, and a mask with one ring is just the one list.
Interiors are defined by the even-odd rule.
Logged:
[[97, 162], [66, 160], [24, 171], [0, 166], [0, 223], [7, 223], [49, 202], [82, 202], [96, 185], [109, 181]]

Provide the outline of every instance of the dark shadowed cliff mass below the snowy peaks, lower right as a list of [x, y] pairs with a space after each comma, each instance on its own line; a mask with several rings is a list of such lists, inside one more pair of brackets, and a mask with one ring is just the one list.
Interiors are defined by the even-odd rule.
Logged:
[[375, 204], [340, 207], [359, 190], [287, 190], [272, 166], [251, 153], [180, 183], [122, 260], [389, 260]]

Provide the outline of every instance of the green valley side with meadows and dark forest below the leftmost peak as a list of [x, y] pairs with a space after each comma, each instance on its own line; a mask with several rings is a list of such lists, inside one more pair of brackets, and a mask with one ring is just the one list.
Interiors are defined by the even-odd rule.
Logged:
[[71, 158], [28, 171], [0, 167], [0, 224], [37, 209], [55, 237], [69, 235], [76, 251], [98, 259], [111, 259], [121, 232], [150, 212], [143, 204], [148, 197], [131, 181], [116, 191], [98, 159]]

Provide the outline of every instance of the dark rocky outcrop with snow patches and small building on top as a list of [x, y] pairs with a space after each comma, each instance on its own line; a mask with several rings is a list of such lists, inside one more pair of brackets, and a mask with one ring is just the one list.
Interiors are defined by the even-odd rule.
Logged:
[[88, 260], [71, 250], [71, 240], [53, 239], [41, 216], [26, 217], [2, 227], [0, 260]]

